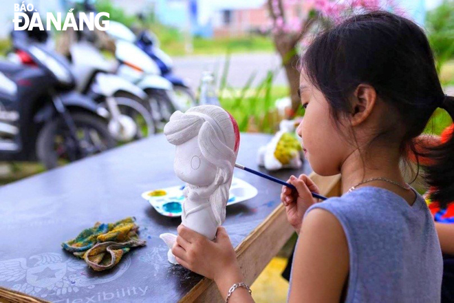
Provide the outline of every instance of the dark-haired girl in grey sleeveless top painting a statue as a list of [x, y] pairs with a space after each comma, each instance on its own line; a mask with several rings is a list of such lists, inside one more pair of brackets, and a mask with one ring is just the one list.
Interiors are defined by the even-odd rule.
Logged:
[[[402, 156], [441, 107], [454, 116], [424, 32], [388, 12], [347, 19], [318, 35], [302, 59], [297, 132], [322, 176], [341, 174], [343, 196], [318, 203], [307, 176], [283, 187], [299, 233], [290, 302], [439, 302], [442, 253], [424, 199], [404, 181]], [[433, 198], [454, 197], [454, 140], [431, 150]], [[304, 220], [303, 220], [304, 218]], [[173, 254], [213, 279], [229, 302], [253, 302], [223, 227], [214, 242], [180, 225]], [[229, 292], [231, 286], [235, 285]]]

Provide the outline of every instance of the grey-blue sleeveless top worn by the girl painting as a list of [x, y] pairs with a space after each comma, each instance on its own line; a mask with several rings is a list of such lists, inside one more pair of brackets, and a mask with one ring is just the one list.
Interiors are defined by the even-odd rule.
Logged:
[[[339, 220], [349, 248], [345, 302], [440, 302], [443, 261], [429, 208], [379, 187], [312, 205]], [[310, 278], [310, 277], [308, 277]]]

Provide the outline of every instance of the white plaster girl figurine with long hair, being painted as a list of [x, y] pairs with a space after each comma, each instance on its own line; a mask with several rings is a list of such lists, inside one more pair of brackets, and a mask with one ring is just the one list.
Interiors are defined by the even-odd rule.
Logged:
[[[173, 169], [186, 182], [182, 223], [210, 240], [226, 218], [228, 190], [239, 147], [235, 119], [216, 105], [201, 105], [184, 114], [173, 113], [164, 127], [169, 143], [176, 146]], [[160, 238], [169, 249], [176, 236], [163, 233]], [[169, 262], [177, 264], [169, 250]]]

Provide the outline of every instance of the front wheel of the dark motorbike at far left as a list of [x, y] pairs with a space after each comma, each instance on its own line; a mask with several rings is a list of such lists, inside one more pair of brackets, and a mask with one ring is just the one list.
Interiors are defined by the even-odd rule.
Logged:
[[85, 156], [99, 154], [116, 146], [107, 125], [93, 114], [71, 114], [77, 128], [78, 149], [63, 118], [48, 121], [39, 132], [36, 154], [47, 169], [73, 162]]

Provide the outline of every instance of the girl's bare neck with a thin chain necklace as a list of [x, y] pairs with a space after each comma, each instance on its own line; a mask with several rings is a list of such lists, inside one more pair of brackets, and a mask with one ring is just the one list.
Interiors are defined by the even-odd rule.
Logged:
[[[360, 152], [356, 149], [352, 154], [347, 156], [340, 167], [340, 174], [342, 179], [342, 191], [347, 192], [352, 186], [358, 183], [371, 179], [371, 178], [387, 178], [398, 182], [400, 185], [405, 184], [405, 180], [400, 171], [400, 154], [397, 150], [392, 149], [375, 149], [368, 151], [367, 154], [363, 152], [361, 158]], [[375, 180], [367, 182], [363, 186], [376, 186], [402, 196], [411, 205], [414, 201], [413, 191], [402, 189], [390, 182]]]

